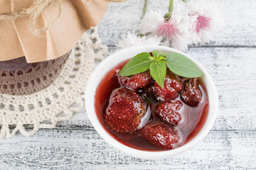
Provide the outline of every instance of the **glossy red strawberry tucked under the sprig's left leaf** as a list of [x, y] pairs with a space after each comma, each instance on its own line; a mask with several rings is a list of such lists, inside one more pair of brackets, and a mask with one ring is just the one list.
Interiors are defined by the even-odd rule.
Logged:
[[132, 77], [124, 77], [118, 75], [119, 83], [129, 89], [137, 90], [144, 86], [148, 86], [152, 82], [152, 77], [149, 70], [146, 72], [132, 75]]

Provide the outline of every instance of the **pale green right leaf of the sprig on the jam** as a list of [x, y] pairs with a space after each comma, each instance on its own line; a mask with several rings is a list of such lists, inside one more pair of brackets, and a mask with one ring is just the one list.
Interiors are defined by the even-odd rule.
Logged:
[[176, 52], [166, 55], [166, 64], [175, 74], [181, 77], [202, 77], [203, 72], [186, 56]]

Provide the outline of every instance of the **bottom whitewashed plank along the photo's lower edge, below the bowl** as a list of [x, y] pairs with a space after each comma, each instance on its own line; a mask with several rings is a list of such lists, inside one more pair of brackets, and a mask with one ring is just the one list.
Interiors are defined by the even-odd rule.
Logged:
[[95, 130], [40, 130], [0, 139], [0, 169], [255, 169], [256, 132], [211, 131], [192, 149], [159, 160], [129, 157]]

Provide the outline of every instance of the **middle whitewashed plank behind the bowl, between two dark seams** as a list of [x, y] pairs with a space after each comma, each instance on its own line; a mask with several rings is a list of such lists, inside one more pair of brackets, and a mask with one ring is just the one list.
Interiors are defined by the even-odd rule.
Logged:
[[[111, 47], [108, 54], [114, 52]], [[256, 129], [256, 49], [190, 48], [188, 55], [203, 64], [213, 77], [219, 96], [219, 111], [214, 130]], [[85, 110], [58, 128], [92, 128]]]

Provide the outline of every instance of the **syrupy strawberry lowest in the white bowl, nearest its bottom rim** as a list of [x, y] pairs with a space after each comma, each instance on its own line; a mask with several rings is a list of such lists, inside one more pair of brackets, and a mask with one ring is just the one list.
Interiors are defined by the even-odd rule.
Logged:
[[164, 123], [156, 125], [147, 124], [140, 132], [151, 144], [162, 149], [174, 149], [174, 144], [181, 139], [177, 130]]

